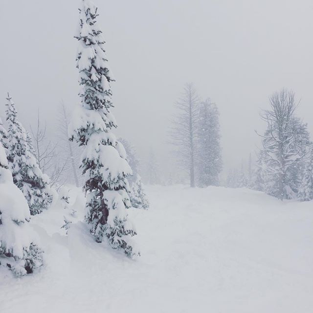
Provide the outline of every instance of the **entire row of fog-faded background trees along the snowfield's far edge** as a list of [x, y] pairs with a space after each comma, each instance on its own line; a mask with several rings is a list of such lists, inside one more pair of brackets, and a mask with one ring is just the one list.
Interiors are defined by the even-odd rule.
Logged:
[[[170, 143], [175, 147], [173, 155], [177, 158], [177, 164], [189, 176], [191, 186], [223, 184], [231, 188], [248, 187], [264, 191], [279, 199], [313, 199], [312, 141], [307, 124], [295, 115], [298, 103], [295, 102], [294, 93], [286, 89], [275, 92], [269, 98], [269, 105], [269, 110], [260, 113], [267, 125], [266, 132], [258, 134], [261, 149], [256, 156], [249, 155], [247, 164], [242, 162], [238, 168], [230, 169], [226, 181], [221, 183], [218, 108], [209, 98], [201, 101], [192, 84], [184, 86], [181, 97], [175, 103], [177, 112], [172, 119]], [[67, 140], [68, 115], [65, 105], [61, 104], [57, 145], [43, 140], [45, 126], [41, 127], [39, 119], [35, 131], [31, 128], [30, 132], [33, 135], [34, 155], [43, 172], [49, 173], [51, 185], [71, 181], [80, 186], [82, 181], [79, 170], [80, 148]], [[29, 133], [27, 136], [29, 138]], [[162, 179], [152, 148], [146, 166], [142, 169], [134, 146], [124, 138], [119, 138], [119, 141], [125, 147], [134, 172], [134, 176], [129, 179], [132, 186], [136, 185], [135, 180], [140, 178], [140, 172], [148, 184], [174, 184], [183, 181], [172, 173], [168, 179]], [[55, 157], [55, 151], [58, 151], [58, 158]], [[57, 160], [57, 165], [50, 164], [51, 160]]]

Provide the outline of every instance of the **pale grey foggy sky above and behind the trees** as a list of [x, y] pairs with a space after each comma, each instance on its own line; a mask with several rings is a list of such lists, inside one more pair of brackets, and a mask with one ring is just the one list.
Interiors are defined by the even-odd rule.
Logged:
[[[225, 167], [256, 150], [261, 108], [283, 87], [301, 98], [313, 132], [312, 0], [95, 0], [106, 40], [118, 123], [139, 155], [166, 166], [173, 103], [193, 82], [220, 110]], [[37, 109], [50, 134], [61, 99], [79, 103], [79, 0], [1, 0], [0, 102], [7, 91], [25, 128]], [[3, 117], [4, 105], [0, 106]], [[167, 165], [169, 166], [169, 165]]]

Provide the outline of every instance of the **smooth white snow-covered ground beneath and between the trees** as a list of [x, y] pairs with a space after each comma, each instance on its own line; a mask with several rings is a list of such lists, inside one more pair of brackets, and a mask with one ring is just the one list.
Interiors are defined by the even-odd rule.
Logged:
[[18, 279], [0, 269], [0, 312], [313, 312], [312, 201], [222, 187], [147, 191], [150, 210], [129, 210], [136, 260], [95, 243], [83, 223], [60, 233], [61, 208], [34, 217], [46, 265]]

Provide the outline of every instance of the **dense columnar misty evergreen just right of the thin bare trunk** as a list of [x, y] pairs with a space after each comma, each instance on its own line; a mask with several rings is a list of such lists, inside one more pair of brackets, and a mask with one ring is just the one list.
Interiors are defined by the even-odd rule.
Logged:
[[217, 186], [222, 171], [221, 135], [219, 111], [210, 99], [200, 105], [197, 133], [198, 184], [201, 187]]

